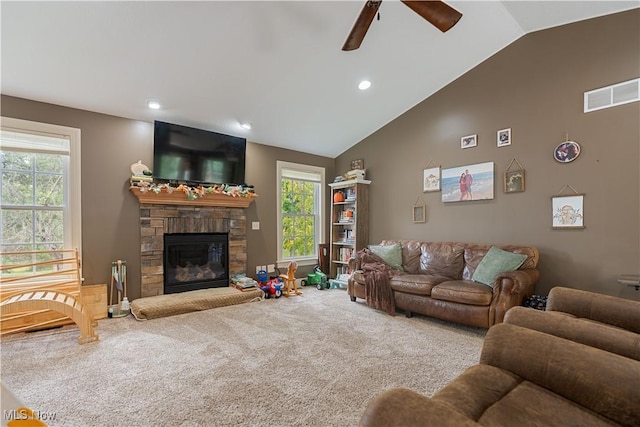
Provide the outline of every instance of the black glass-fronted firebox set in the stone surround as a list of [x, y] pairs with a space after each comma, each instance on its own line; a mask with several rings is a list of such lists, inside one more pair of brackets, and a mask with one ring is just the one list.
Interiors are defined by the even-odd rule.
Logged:
[[229, 233], [164, 235], [164, 293], [229, 286]]

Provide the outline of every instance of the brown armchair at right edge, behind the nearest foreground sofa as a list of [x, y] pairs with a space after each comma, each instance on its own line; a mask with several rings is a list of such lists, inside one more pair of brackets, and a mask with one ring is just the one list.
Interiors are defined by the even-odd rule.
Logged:
[[546, 311], [513, 307], [504, 321], [640, 361], [640, 301], [555, 287]]

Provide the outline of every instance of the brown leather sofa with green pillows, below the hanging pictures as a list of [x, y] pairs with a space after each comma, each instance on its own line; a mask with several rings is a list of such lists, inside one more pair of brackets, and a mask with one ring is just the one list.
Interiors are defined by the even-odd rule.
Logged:
[[[419, 313], [488, 328], [501, 323], [507, 310], [531, 296], [540, 276], [536, 268], [539, 253], [532, 246], [495, 245], [524, 254], [526, 260], [518, 270], [500, 273], [492, 288], [471, 279], [493, 245], [415, 240], [385, 240], [381, 245], [397, 243], [402, 246], [403, 271], [391, 273], [390, 285], [395, 307], [408, 317]], [[366, 300], [366, 277], [357, 256], [350, 266], [354, 273], [347, 292], [352, 301]]]

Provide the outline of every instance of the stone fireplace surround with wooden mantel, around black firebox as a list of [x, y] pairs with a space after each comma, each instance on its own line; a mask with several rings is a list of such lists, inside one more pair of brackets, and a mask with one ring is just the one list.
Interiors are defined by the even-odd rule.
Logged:
[[229, 233], [229, 277], [246, 273], [246, 207], [251, 199], [221, 195], [189, 201], [184, 194], [154, 195], [134, 187], [131, 191], [140, 202], [142, 297], [164, 293], [165, 233]]

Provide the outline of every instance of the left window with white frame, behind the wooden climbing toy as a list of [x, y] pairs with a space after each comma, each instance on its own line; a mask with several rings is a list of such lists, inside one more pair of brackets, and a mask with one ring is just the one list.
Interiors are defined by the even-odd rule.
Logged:
[[0, 175], [2, 251], [81, 251], [79, 129], [2, 117]]

